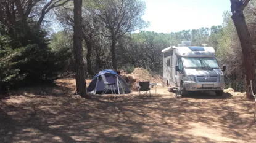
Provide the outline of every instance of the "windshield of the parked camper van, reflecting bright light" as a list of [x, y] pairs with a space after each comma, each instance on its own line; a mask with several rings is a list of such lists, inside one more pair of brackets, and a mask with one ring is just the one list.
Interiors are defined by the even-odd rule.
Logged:
[[185, 68], [218, 68], [215, 58], [184, 58]]

